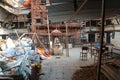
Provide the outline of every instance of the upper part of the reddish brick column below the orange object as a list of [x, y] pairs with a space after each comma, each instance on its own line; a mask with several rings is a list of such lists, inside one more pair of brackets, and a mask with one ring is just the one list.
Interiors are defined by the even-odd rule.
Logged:
[[36, 28], [46, 25], [46, 5], [41, 0], [31, 0], [31, 19], [32, 32], [37, 32]]

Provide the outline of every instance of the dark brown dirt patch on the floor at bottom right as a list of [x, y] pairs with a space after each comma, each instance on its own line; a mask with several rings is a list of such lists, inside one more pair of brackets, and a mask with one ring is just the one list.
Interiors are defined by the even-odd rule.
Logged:
[[[97, 80], [97, 67], [87, 66], [77, 70], [72, 77], [72, 80]], [[108, 80], [102, 73], [100, 80]]]

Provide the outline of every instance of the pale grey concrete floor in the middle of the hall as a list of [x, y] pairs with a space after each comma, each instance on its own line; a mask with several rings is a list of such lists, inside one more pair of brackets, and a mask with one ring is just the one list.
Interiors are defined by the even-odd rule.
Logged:
[[69, 49], [69, 57], [52, 56], [48, 60], [43, 60], [42, 69], [45, 75], [40, 76], [40, 80], [72, 80], [73, 73], [81, 66], [88, 66], [94, 63], [93, 58], [88, 54], [88, 60], [80, 59], [81, 48]]

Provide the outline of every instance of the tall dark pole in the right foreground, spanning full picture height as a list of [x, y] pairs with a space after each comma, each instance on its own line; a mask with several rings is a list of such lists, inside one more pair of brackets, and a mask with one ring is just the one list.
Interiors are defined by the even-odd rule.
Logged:
[[97, 80], [100, 80], [100, 73], [101, 73], [101, 60], [102, 60], [102, 52], [103, 52], [103, 36], [104, 36], [104, 21], [105, 21], [105, 0], [102, 0], [102, 19], [101, 19], [101, 36], [100, 36], [100, 53], [98, 56], [98, 74], [97, 74]]

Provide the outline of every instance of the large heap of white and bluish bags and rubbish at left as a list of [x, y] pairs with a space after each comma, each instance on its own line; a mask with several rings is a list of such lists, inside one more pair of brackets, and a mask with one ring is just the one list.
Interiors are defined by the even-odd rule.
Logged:
[[[40, 54], [33, 45], [32, 39], [26, 37], [19, 40], [0, 40], [0, 78], [5, 75], [22, 75], [24, 80], [28, 80], [34, 74], [33, 64], [38, 66], [40, 74], [41, 56], [47, 51], [41, 49], [43, 53]], [[44, 59], [47, 57], [44, 56]]]

